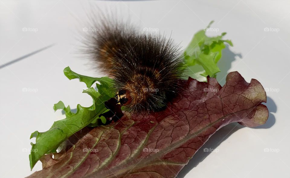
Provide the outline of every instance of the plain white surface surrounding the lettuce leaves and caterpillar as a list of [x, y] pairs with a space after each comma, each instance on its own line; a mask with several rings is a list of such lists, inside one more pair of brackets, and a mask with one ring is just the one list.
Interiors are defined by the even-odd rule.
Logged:
[[[112, 9], [119, 17], [158, 28], [185, 48], [193, 34], [215, 20], [212, 28], [226, 31], [234, 47], [225, 49], [218, 63], [224, 76], [239, 71], [250, 82], [255, 78], [267, 92], [270, 111], [266, 125], [246, 128], [230, 124], [219, 130], [196, 153], [178, 177], [290, 177], [289, 27], [288, 0], [176, 0], [176, 1], [0, 1], [0, 66], [40, 48], [34, 55], [0, 68], [0, 177], [24, 177], [29, 168], [30, 134], [50, 128], [64, 118], [53, 112], [62, 100], [75, 108], [91, 105], [82, 94], [84, 83], [69, 81], [63, 69], [89, 76], [92, 70], [80, 49], [82, 28], [92, 6]], [[22, 28], [36, 28], [25, 32]], [[279, 29], [266, 32], [264, 28]], [[158, 32], [158, 33], [159, 33]], [[209, 35], [217, 35], [215, 32]], [[23, 92], [23, 88], [37, 92]], [[274, 92], [273, 90], [279, 90]], [[204, 148], [216, 149], [204, 152]], [[265, 152], [268, 148], [270, 151]], [[276, 151], [276, 152], [275, 152]], [[200, 162], [201, 161], [201, 162]], [[198, 164], [198, 162], [200, 162]], [[33, 171], [40, 170], [40, 162]]]

